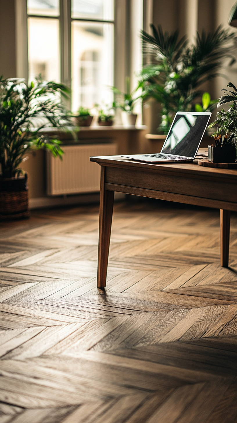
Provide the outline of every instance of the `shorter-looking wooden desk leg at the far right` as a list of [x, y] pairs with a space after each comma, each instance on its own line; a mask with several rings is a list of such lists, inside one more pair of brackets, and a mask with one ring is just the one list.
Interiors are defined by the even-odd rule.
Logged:
[[230, 211], [220, 209], [220, 266], [229, 266]]

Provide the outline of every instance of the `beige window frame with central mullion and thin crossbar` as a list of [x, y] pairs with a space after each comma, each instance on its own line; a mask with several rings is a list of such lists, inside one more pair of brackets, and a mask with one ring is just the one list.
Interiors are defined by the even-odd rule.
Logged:
[[[132, 58], [132, 50], [135, 47], [138, 51], [138, 31], [143, 28], [143, 16], [139, 16], [140, 22], [137, 22], [137, 16], [134, 11], [138, 9], [138, 3], [141, 13], [141, 5], [146, 8], [146, 3], [152, 0], [114, 0], [114, 65], [113, 79], [114, 86], [120, 91], [125, 91], [125, 77], [130, 76], [134, 81], [134, 73], [138, 73], [139, 67]], [[29, 15], [32, 16], [32, 15]], [[35, 15], [34, 15], [35, 16]], [[37, 15], [40, 16], [40, 15]], [[145, 15], [144, 15], [145, 16]], [[45, 16], [41, 16], [44, 17]], [[70, 89], [71, 84], [71, 0], [60, 0], [60, 16], [53, 16], [60, 20], [60, 60], [61, 60], [61, 82]], [[16, 23], [16, 69], [17, 77], [25, 78], [28, 81], [28, 14], [27, 0], [15, 0], [15, 23]], [[50, 19], [52, 17], [50, 16]], [[84, 20], [75, 18], [75, 20]], [[91, 21], [91, 19], [89, 19]], [[96, 22], [97, 19], [96, 19]], [[102, 22], [106, 22], [103, 21]], [[142, 55], [141, 55], [142, 56]], [[141, 62], [141, 60], [140, 60]], [[140, 66], [140, 65], [139, 65]], [[131, 89], [134, 88], [131, 86]], [[67, 103], [71, 110], [71, 99]], [[138, 112], [139, 113], [139, 112]]]

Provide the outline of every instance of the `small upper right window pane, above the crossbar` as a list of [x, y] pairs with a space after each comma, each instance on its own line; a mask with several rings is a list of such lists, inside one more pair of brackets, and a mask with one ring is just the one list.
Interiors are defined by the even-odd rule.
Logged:
[[72, 18], [113, 20], [113, 0], [72, 0]]

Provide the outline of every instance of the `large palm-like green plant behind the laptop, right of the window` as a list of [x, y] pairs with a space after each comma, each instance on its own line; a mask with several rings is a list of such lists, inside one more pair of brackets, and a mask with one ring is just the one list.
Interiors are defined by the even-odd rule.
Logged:
[[162, 105], [160, 130], [168, 129], [177, 111], [194, 108], [201, 96], [201, 85], [218, 75], [223, 60], [234, 63], [232, 49], [237, 37], [221, 27], [214, 33], [197, 33], [194, 44], [188, 46], [179, 32], [163, 32], [151, 25], [153, 36], [142, 31], [144, 54], [152, 63], [144, 66], [139, 82], [143, 99], [153, 97]]

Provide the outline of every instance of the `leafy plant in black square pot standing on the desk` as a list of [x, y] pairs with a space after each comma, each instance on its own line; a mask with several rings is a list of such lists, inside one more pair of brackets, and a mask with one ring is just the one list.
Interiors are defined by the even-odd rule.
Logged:
[[233, 163], [236, 160], [236, 135], [237, 135], [237, 88], [229, 82], [227, 87], [234, 91], [226, 90], [220, 97], [217, 107], [232, 102], [229, 110], [221, 109], [217, 112], [215, 122], [209, 128], [216, 126], [212, 134], [215, 139], [215, 146], [208, 146], [208, 160], [216, 163]]

